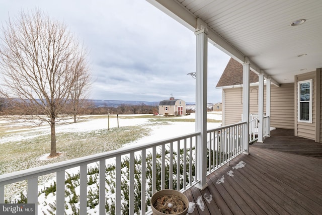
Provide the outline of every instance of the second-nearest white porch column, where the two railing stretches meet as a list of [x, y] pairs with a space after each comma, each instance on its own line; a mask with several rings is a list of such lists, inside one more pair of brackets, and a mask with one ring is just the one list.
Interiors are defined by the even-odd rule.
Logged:
[[245, 154], [249, 154], [249, 125], [250, 125], [250, 71], [251, 65], [246, 57], [243, 63], [243, 122], [247, 122], [244, 128], [244, 148]]

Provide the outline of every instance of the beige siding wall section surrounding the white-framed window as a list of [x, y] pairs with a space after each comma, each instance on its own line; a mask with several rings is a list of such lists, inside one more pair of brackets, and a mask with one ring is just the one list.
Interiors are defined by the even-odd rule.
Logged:
[[[312, 122], [311, 123], [306, 123], [306, 122], [299, 122], [297, 121], [297, 112], [298, 112], [298, 108], [297, 108], [297, 96], [298, 96], [298, 89], [297, 89], [297, 82], [299, 81], [305, 81], [305, 80], [310, 80], [312, 79]], [[295, 76], [295, 80], [296, 82], [294, 82], [294, 87], [296, 87], [296, 94], [294, 95], [294, 100], [296, 101], [295, 107], [296, 107], [296, 111], [295, 114], [296, 116], [294, 118], [296, 118], [295, 120], [295, 135], [296, 136], [300, 136], [300, 137], [304, 137], [304, 138], [308, 138], [308, 139], [314, 139], [315, 140], [315, 123], [316, 123], [316, 76], [315, 76], [315, 71], [312, 71], [310, 73], [306, 73], [306, 74], [301, 74], [301, 75], [297, 75]]]

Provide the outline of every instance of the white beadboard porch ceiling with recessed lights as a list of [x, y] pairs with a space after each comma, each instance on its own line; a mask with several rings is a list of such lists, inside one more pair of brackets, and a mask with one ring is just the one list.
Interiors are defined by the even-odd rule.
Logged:
[[[204, 25], [212, 44], [239, 62], [247, 56], [275, 84], [322, 67], [322, 1], [147, 1], [193, 31]], [[306, 22], [290, 25], [299, 19]]]

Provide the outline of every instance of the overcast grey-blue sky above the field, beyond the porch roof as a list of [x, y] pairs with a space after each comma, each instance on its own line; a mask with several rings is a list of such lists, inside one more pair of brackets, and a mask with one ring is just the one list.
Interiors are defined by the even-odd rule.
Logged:
[[[195, 101], [196, 36], [145, 0], [0, 0], [4, 24], [38, 8], [63, 22], [87, 47], [90, 99], [160, 101], [171, 94]], [[208, 103], [229, 56], [208, 45]]]

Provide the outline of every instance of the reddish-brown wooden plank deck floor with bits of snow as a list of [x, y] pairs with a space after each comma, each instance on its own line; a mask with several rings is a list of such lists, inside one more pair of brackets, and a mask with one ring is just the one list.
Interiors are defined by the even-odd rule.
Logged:
[[[209, 175], [206, 189], [186, 191], [189, 201], [197, 202], [189, 214], [322, 214], [322, 153], [299, 146], [308, 143], [307, 147], [313, 144], [322, 150], [294, 134], [281, 147], [277, 135], [272, 133], [264, 144], [252, 145], [250, 155], [240, 155]], [[295, 142], [301, 153], [293, 149]], [[235, 169], [242, 161], [245, 167]], [[229, 171], [233, 176], [227, 175]], [[223, 176], [224, 182], [217, 183]]]

